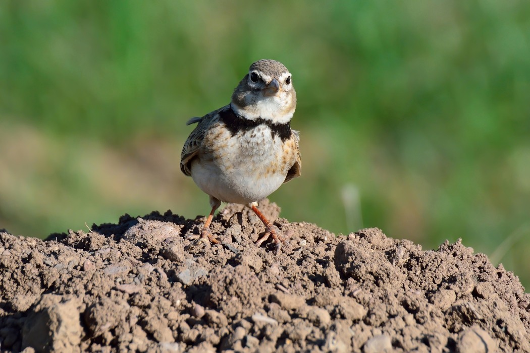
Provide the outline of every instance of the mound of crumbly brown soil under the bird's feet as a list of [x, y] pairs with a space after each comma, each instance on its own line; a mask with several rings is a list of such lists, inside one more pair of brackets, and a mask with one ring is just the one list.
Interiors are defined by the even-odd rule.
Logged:
[[530, 352], [530, 295], [461, 241], [421, 250], [277, 218], [281, 254], [240, 205], [122, 216], [46, 240], [0, 232], [0, 349], [24, 352]]

